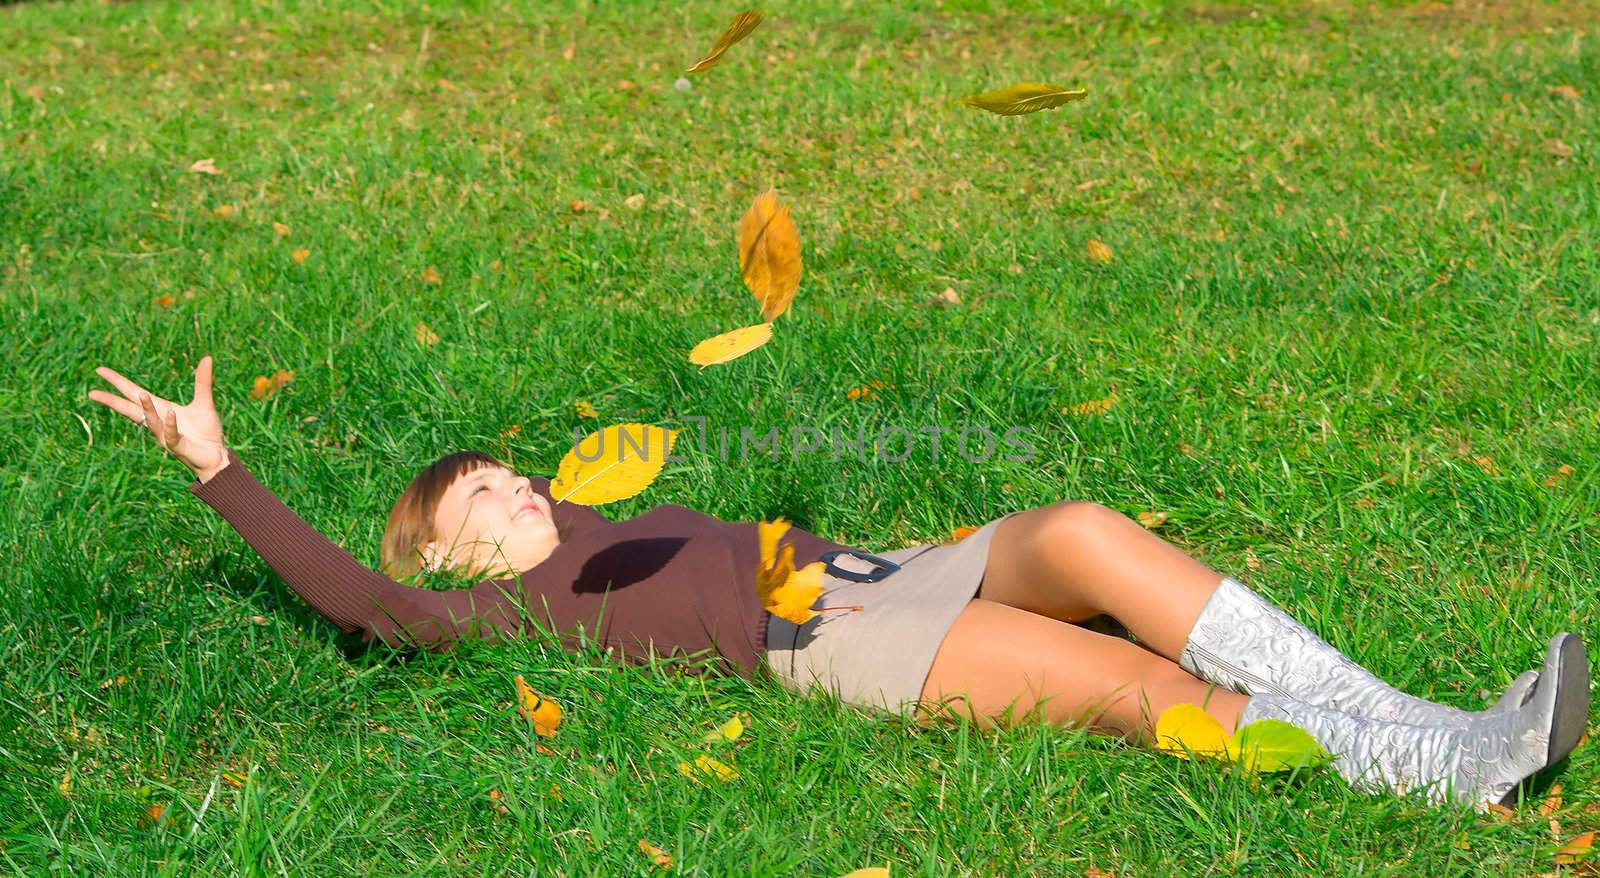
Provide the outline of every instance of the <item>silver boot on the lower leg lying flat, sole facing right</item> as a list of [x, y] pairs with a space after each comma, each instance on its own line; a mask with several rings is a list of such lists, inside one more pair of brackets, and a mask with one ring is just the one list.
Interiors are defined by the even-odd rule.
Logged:
[[1539, 769], [1560, 761], [1589, 716], [1589, 660], [1576, 635], [1558, 635], [1520, 708], [1480, 715], [1466, 728], [1370, 720], [1272, 694], [1253, 696], [1238, 716], [1283, 720], [1334, 755], [1333, 768], [1363, 790], [1424, 790], [1429, 801], [1499, 803]]

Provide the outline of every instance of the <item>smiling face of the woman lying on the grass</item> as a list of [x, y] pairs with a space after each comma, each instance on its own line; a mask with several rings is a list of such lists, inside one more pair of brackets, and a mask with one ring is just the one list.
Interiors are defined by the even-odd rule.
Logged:
[[429, 565], [483, 576], [520, 574], [560, 544], [549, 501], [528, 477], [504, 467], [480, 467], [451, 481], [434, 512], [434, 533], [438, 539], [422, 547]]

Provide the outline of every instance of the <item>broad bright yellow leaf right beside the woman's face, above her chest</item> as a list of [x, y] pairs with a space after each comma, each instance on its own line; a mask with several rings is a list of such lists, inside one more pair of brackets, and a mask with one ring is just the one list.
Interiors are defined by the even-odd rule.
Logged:
[[643, 491], [661, 475], [678, 430], [613, 424], [584, 437], [562, 457], [550, 499], [598, 505]]

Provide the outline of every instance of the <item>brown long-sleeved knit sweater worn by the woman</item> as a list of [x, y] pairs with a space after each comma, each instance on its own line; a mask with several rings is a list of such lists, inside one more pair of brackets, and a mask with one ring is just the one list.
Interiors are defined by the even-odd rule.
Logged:
[[[766, 649], [768, 613], [755, 593], [760, 544], [754, 521], [730, 523], [677, 504], [622, 521], [557, 504], [546, 478], [530, 477], [550, 501], [560, 545], [512, 579], [466, 590], [405, 585], [360, 565], [294, 515], [234, 454], [211, 481], [189, 491], [218, 510], [283, 582], [317, 613], [362, 640], [448, 649], [469, 637], [528, 633], [533, 622], [573, 645], [579, 630], [627, 660], [715, 654], [752, 673]], [[795, 566], [837, 542], [790, 528]], [[710, 653], [707, 653], [710, 651]]]

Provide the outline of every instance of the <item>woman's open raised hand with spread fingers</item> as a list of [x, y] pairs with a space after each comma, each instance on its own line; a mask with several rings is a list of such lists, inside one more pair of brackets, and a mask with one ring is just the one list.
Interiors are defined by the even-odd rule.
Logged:
[[202, 357], [195, 368], [195, 398], [189, 405], [163, 400], [107, 366], [98, 366], [94, 374], [109, 381], [122, 395], [90, 390], [90, 398], [147, 427], [155, 435], [155, 443], [182, 461], [200, 481], [208, 481], [227, 465], [222, 421], [211, 401], [210, 355]]

